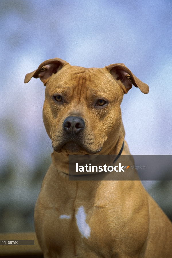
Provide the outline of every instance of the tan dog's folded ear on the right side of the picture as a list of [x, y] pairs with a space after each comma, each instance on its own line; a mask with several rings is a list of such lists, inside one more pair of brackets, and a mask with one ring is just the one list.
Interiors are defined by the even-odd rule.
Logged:
[[139, 88], [144, 94], [149, 92], [149, 86], [140, 81], [124, 64], [112, 64], [106, 66], [106, 69], [111, 73], [114, 79], [122, 82], [124, 94], [132, 88], [132, 85]]

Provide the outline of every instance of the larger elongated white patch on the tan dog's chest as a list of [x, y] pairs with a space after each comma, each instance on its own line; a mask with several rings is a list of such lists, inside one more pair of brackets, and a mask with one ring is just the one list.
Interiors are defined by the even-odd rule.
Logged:
[[85, 222], [86, 214], [84, 212], [83, 206], [79, 207], [77, 214], [75, 215], [75, 218], [77, 220], [77, 226], [79, 228], [79, 232], [81, 233], [82, 236], [88, 238], [90, 236], [90, 227]]

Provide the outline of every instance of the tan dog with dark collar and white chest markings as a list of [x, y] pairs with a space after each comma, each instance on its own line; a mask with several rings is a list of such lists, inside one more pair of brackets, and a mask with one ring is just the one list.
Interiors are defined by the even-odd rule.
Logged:
[[[130, 154], [120, 104], [132, 84], [124, 64], [71, 66], [58, 58], [28, 73], [46, 86], [43, 121], [52, 164], [35, 207], [44, 257], [172, 257], [172, 224], [140, 181], [69, 181], [69, 154]], [[124, 156], [123, 156], [124, 157]]]

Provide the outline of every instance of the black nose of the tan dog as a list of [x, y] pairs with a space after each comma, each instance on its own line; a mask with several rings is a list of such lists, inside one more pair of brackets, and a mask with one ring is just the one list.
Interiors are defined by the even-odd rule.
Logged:
[[85, 127], [85, 122], [81, 117], [67, 117], [64, 119], [63, 128], [68, 133], [79, 133]]

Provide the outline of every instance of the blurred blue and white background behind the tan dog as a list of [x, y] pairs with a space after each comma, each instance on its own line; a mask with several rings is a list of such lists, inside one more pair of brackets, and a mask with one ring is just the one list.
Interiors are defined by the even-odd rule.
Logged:
[[[104, 67], [124, 63], [149, 85], [124, 95], [131, 154], [172, 154], [172, 2], [0, 1], [0, 232], [34, 230], [33, 209], [51, 162], [44, 90], [24, 77], [46, 59]], [[143, 182], [172, 218], [171, 181]]]

